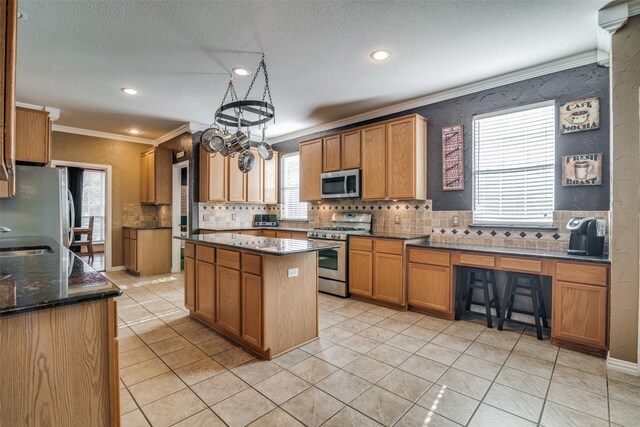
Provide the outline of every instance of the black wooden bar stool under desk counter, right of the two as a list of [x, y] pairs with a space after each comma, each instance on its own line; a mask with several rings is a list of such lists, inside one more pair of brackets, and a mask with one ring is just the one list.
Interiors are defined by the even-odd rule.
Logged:
[[[526, 281], [526, 284], [520, 284], [519, 280]], [[518, 292], [518, 289], [528, 292]], [[514, 310], [513, 302], [516, 295], [525, 296], [531, 298], [533, 305], [533, 312], [524, 310]], [[542, 286], [540, 285], [540, 276], [536, 274], [528, 273], [507, 273], [507, 287], [504, 291], [503, 303], [506, 305], [500, 320], [498, 321], [498, 330], [502, 330], [505, 320], [511, 323], [517, 323], [525, 326], [535, 326], [536, 335], [539, 340], [542, 340], [542, 328], [540, 327], [540, 317], [542, 317], [542, 325], [548, 328], [547, 324], [547, 310], [544, 308], [544, 298], [542, 297]], [[533, 316], [535, 323], [522, 322], [520, 320], [511, 319], [512, 313], [527, 314]]]

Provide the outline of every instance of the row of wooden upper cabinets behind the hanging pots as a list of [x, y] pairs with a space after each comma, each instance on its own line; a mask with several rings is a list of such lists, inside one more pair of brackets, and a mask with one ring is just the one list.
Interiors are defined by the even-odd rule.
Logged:
[[279, 156], [263, 160], [255, 148], [253, 169], [242, 173], [237, 157], [214, 155], [200, 147], [200, 202], [278, 203]]

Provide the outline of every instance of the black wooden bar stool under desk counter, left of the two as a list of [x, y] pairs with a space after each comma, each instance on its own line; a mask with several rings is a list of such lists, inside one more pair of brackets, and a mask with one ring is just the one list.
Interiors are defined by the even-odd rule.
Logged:
[[[471, 304], [483, 305], [485, 308], [485, 316], [487, 318], [487, 327], [493, 328], [493, 318], [491, 316], [491, 308], [496, 309], [496, 316], [500, 317], [500, 299], [498, 298], [498, 289], [496, 287], [496, 276], [493, 270], [485, 270], [482, 268], [464, 267], [462, 274], [458, 276], [464, 278], [458, 286], [456, 295], [455, 319], [460, 320], [462, 315], [462, 305], [465, 305], [466, 311], [474, 313], [471, 310]], [[493, 292], [493, 298], [489, 297], [489, 286]], [[483, 301], [473, 301], [473, 290], [482, 289]]]

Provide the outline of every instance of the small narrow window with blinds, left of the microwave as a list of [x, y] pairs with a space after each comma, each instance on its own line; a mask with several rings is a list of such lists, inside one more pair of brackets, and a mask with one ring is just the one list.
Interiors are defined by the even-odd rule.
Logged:
[[280, 219], [306, 221], [307, 203], [300, 202], [300, 154], [282, 156], [281, 171]]

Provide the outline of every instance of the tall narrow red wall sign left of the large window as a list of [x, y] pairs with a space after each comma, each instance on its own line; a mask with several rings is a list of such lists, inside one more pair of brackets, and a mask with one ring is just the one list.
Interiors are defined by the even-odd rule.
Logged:
[[464, 190], [463, 126], [442, 128], [442, 191]]

